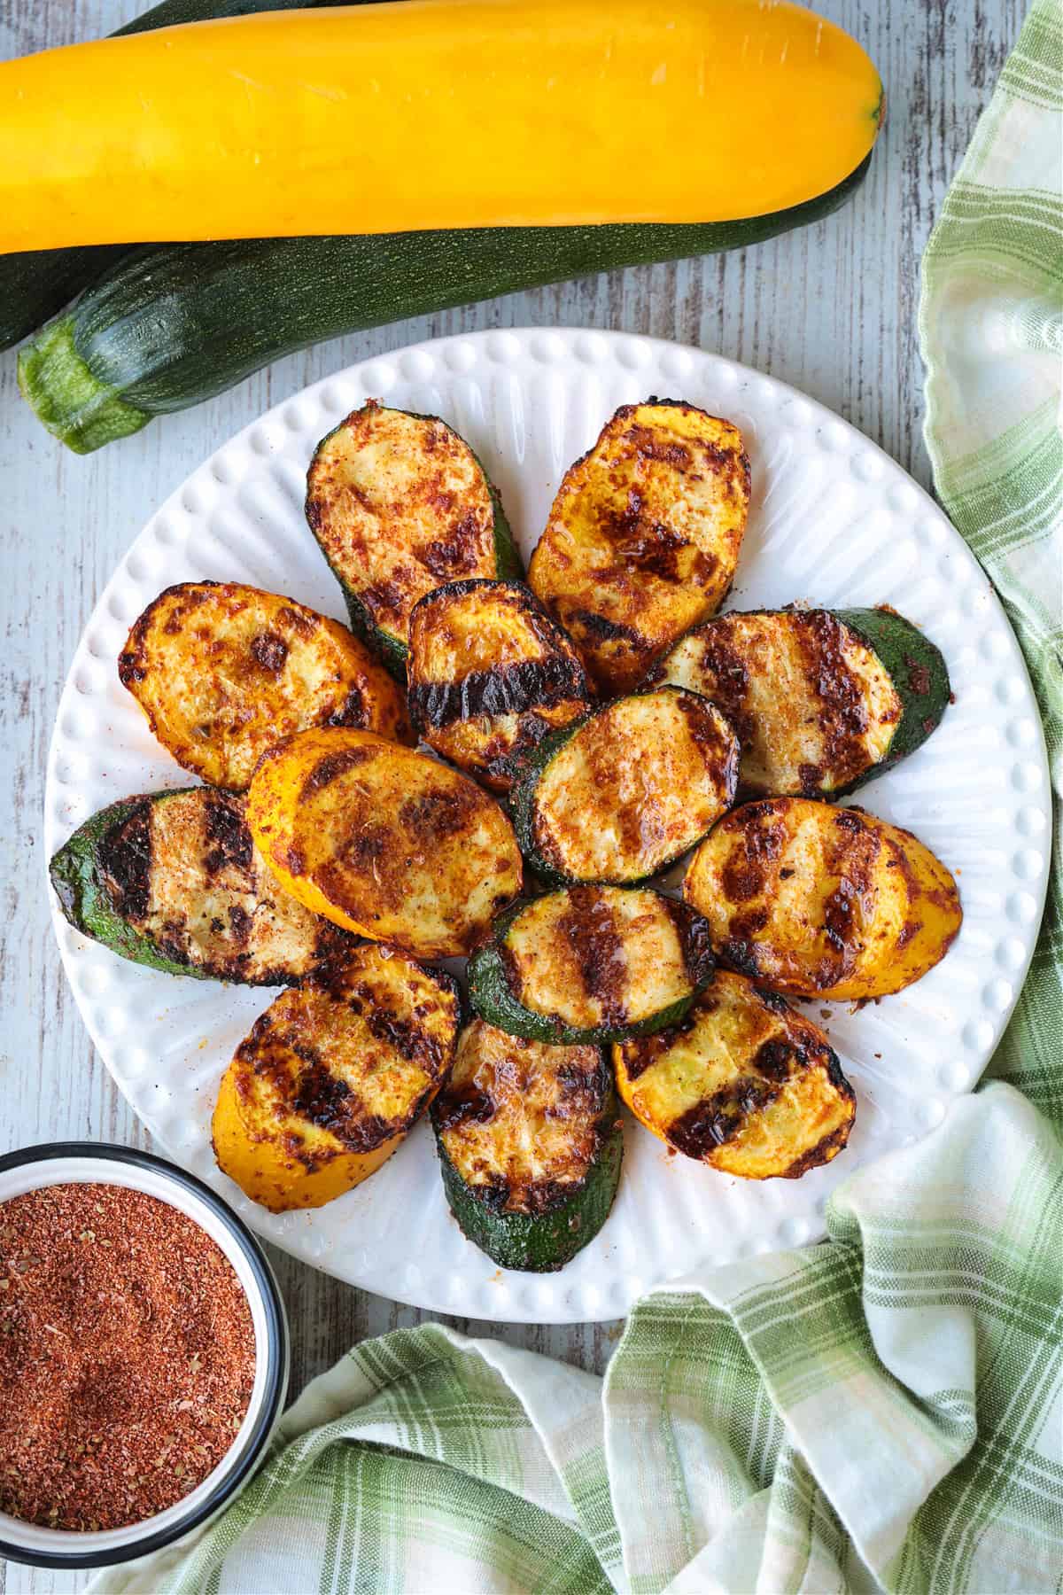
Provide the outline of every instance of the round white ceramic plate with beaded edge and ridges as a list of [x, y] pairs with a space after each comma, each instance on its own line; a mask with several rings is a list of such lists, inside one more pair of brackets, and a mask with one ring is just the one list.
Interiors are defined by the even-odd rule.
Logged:
[[271, 410], [151, 517], [107, 585], [70, 668], [48, 766], [51, 855], [94, 810], [186, 785], [118, 683], [129, 624], [171, 582], [253, 582], [343, 617], [303, 520], [317, 440], [367, 397], [443, 416], [502, 491], [529, 555], [564, 469], [620, 404], [661, 394], [732, 418], [752, 461], [749, 530], [730, 608], [891, 603], [943, 649], [956, 702], [940, 729], [859, 801], [955, 871], [964, 925], [948, 957], [897, 997], [849, 1013], [811, 1005], [857, 1093], [848, 1148], [798, 1182], [754, 1183], [669, 1158], [626, 1126], [601, 1235], [558, 1274], [497, 1270], [462, 1238], [419, 1124], [359, 1190], [271, 1215], [214, 1164], [209, 1121], [261, 989], [174, 979], [56, 935], [107, 1067], [171, 1156], [217, 1185], [260, 1235], [352, 1284], [441, 1313], [579, 1322], [625, 1313], [657, 1281], [822, 1235], [829, 1191], [857, 1164], [939, 1124], [975, 1083], [1012, 1011], [1041, 919], [1049, 777], [1030, 681], [990, 584], [942, 512], [873, 443], [821, 405], [698, 349], [625, 333], [483, 332], [352, 367]]

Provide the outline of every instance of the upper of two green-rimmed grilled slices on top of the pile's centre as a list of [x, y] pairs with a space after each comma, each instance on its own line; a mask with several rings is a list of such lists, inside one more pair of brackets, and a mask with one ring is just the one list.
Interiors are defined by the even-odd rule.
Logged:
[[550, 882], [634, 884], [730, 809], [738, 738], [698, 692], [617, 699], [550, 735], [513, 793], [516, 839]]

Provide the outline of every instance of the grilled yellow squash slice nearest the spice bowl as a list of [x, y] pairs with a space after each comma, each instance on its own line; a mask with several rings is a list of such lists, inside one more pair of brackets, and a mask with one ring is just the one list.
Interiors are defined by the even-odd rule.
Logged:
[[257, 1019], [214, 1110], [218, 1168], [271, 1212], [368, 1179], [446, 1078], [461, 1026], [449, 975], [360, 946]]

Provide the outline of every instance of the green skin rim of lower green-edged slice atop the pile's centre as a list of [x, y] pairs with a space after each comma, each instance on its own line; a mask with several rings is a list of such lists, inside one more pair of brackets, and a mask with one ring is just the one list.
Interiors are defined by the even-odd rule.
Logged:
[[[518, 898], [499, 914], [491, 927], [488, 941], [481, 947], [477, 947], [465, 970], [469, 1006], [481, 1019], [486, 1019], [488, 1024], [497, 1026], [499, 1030], [507, 1030], [510, 1035], [521, 1035], [528, 1042], [547, 1042], [555, 1046], [579, 1046], [585, 1042], [602, 1046], [607, 1042], [623, 1042], [630, 1037], [657, 1035], [658, 1030], [666, 1030], [669, 1026], [679, 1024], [698, 992], [712, 979], [716, 963], [711, 952], [708, 952], [706, 941], [706, 952], [698, 959], [696, 968], [692, 970], [690, 995], [681, 997], [679, 1002], [669, 1003], [666, 1008], [660, 1008], [637, 1024], [580, 1029], [579, 1026], [564, 1024], [561, 1019], [551, 1019], [543, 1013], [535, 1013], [513, 995], [502, 954], [505, 933], [518, 914], [532, 901], [532, 898]], [[700, 919], [700, 916], [696, 917]]]

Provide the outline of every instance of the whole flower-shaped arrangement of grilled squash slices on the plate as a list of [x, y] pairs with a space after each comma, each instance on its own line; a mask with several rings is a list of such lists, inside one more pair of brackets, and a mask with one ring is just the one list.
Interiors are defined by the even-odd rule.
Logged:
[[902, 990], [959, 930], [948, 869], [835, 802], [931, 735], [948, 671], [892, 609], [719, 614], [749, 486], [732, 423], [625, 405], [524, 579], [469, 445], [368, 402], [308, 472], [349, 628], [226, 582], [135, 620], [120, 678], [201, 785], [112, 804], [51, 879], [126, 959], [285, 987], [214, 1110], [253, 1201], [341, 1196], [427, 1112], [462, 1231], [543, 1271], [609, 1215], [617, 1097], [728, 1176], [845, 1148], [853, 1089], [787, 998]]

